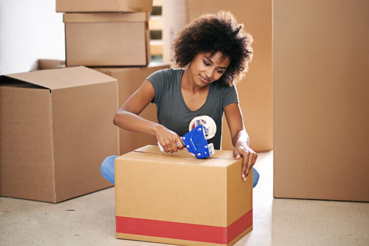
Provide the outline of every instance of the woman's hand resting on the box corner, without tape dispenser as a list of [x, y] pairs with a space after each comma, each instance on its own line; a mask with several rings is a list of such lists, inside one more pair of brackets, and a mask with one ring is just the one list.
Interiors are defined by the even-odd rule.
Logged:
[[242, 179], [246, 181], [247, 176], [249, 175], [250, 170], [252, 169], [252, 166], [254, 166], [257, 154], [255, 151], [253, 151], [249, 146], [246, 144], [236, 146], [233, 150], [233, 156], [236, 159], [240, 159], [241, 156], [243, 157], [242, 161]]

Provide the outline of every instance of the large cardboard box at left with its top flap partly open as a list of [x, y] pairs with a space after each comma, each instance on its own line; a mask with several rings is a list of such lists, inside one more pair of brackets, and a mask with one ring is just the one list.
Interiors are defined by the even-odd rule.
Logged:
[[0, 196], [60, 202], [112, 186], [115, 78], [86, 67], [0, 77]]

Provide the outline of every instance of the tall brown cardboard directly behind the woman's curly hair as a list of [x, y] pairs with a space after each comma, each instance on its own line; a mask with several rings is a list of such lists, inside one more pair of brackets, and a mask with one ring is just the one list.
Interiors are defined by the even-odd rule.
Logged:
[[[190, 21], [205, 13], [230, 11], [253, 36], [254, 58], [237, 87], [240, 106], [251, 148], [257, 152], [273, 149], [272, 0], [187, 0], [187, 4]], [[233, 150], [225, 117], [222, 149]]]

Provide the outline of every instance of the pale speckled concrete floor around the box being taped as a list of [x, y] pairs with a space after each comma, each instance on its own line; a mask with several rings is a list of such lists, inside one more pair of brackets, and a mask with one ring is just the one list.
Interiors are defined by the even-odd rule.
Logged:
[[[369, 203], [273, 199], [259, 153], [253, 230], [235, 245], [369, 245]], [[58, 204], [0, 198], [0, 245], [164, 245], [115, 238], [114, 187]]]

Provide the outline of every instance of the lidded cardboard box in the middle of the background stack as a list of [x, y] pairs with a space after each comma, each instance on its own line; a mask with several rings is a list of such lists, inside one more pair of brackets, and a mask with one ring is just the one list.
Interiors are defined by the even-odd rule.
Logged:
[[64, 14], [67, 66], [146, 66], [149, 13]]

